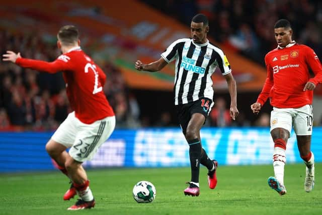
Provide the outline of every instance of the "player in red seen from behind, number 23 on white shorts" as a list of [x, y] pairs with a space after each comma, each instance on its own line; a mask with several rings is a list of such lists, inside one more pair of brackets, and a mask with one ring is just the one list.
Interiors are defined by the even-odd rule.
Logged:
[[73, 112], [59, 125], [47, 142], [46, 150], [53, 163], [72, 182], [64, 200], [76, 194], [79, 196], [77, 202], [68, 209], [86, 209], [94, 207], [95, 199], [82, 163], [91, 160], [112, 134], [115, 116], [103, 92], [106, 76], [79, 47], [77, 28], [63, 26], [57, 38], [57, 46], [62, 54], [53, 62], [23, 58], [20, 53], [13, 51], [7, 51], [3, 60], [47, 73], [62, 71]]

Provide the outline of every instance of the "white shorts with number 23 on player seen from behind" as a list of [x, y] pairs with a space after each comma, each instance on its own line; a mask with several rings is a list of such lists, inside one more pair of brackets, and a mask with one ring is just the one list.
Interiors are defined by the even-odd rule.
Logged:
[[70, 148], [68, 153], [74, 160], [84, 162], [93, 159], [98, 148], [110, 137], [114, 128], [115, 116], [85, 124], [75, 117], [75, 112], [71, 112], [51, 138]]

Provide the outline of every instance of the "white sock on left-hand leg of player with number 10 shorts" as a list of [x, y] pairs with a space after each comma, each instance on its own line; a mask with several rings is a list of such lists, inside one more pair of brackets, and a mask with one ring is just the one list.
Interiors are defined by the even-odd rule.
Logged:
[[273, 153], [273, 167], [275, 178], [284, 184], [284, 166], [286, 162], [285, 150], [279, 147], [274, 148]]

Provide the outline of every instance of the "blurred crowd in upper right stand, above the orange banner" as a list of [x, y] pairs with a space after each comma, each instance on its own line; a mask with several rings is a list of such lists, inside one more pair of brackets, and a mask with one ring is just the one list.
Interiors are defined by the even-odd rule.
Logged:
[[[276, 48], [272, 29], [278, 19], [292, 23], [293, 38], [322, 56], [322, 3], [276, 0], [166, 0], [145, 4], [190, 25], [190, 18], [203, 13], [209, 18], [208, 35], [264, 65], [265, 54]], [[184, 9], [184, 10], [183, 10]]]

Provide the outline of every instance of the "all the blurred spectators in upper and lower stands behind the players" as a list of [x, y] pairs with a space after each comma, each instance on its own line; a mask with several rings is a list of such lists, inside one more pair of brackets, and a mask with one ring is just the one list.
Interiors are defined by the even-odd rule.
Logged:
[[[210, 37], [261, 64], [264, 64], [265, 54], [276, 47], [272, 34], [274, 23], [279, 18], [286, 18], [293, 24], [294, 39], [309, 45], [319, 57], [322, 56], [322, 42], [319, 40], [322, 31], [322, 4], [318, 1], [142, 0], [142, 2], [178, 19], [185, 25], [190, 25], [193, 15], [206, 14], [210, 21]], [[185, 10], [181, 10], [182, 8]], [[22, 34], [19, 31], [0, 30], [2, 54], [6, 50], [19, 50], [24, 57], [46, 61], [52, 61], [59, 55], [55, 42], [48, 43], [35, 32]], [[95, 50], [86, 51], [91, 55]], [[99, 64], [107, 75], [104, 92], [116, 113], [117, 127], [176, 126], [172, 123], [174, 120], [171, 119], [170, 112], [167, 111], [162, 113], [160, 120], [154, 124], [146, 116], [142, 116], [135, 95], [127, 89], [119, 69], [110, 62], [100, 61]], [[0, 130], [54, 130], [71, 111], [60, 73], [54, 75], [40, 73], [1, 61], [0, 83]], [[111, 85], [113, 88], [109, 87]], [[263, 114], [255, 122], [250, 122], [241, 112], [236, 121], [232, 122], [227, 117], [227, 111], [224, 99], [218, 98], [206, 125], [219, 127], [269, 125], [267, 114]]]

